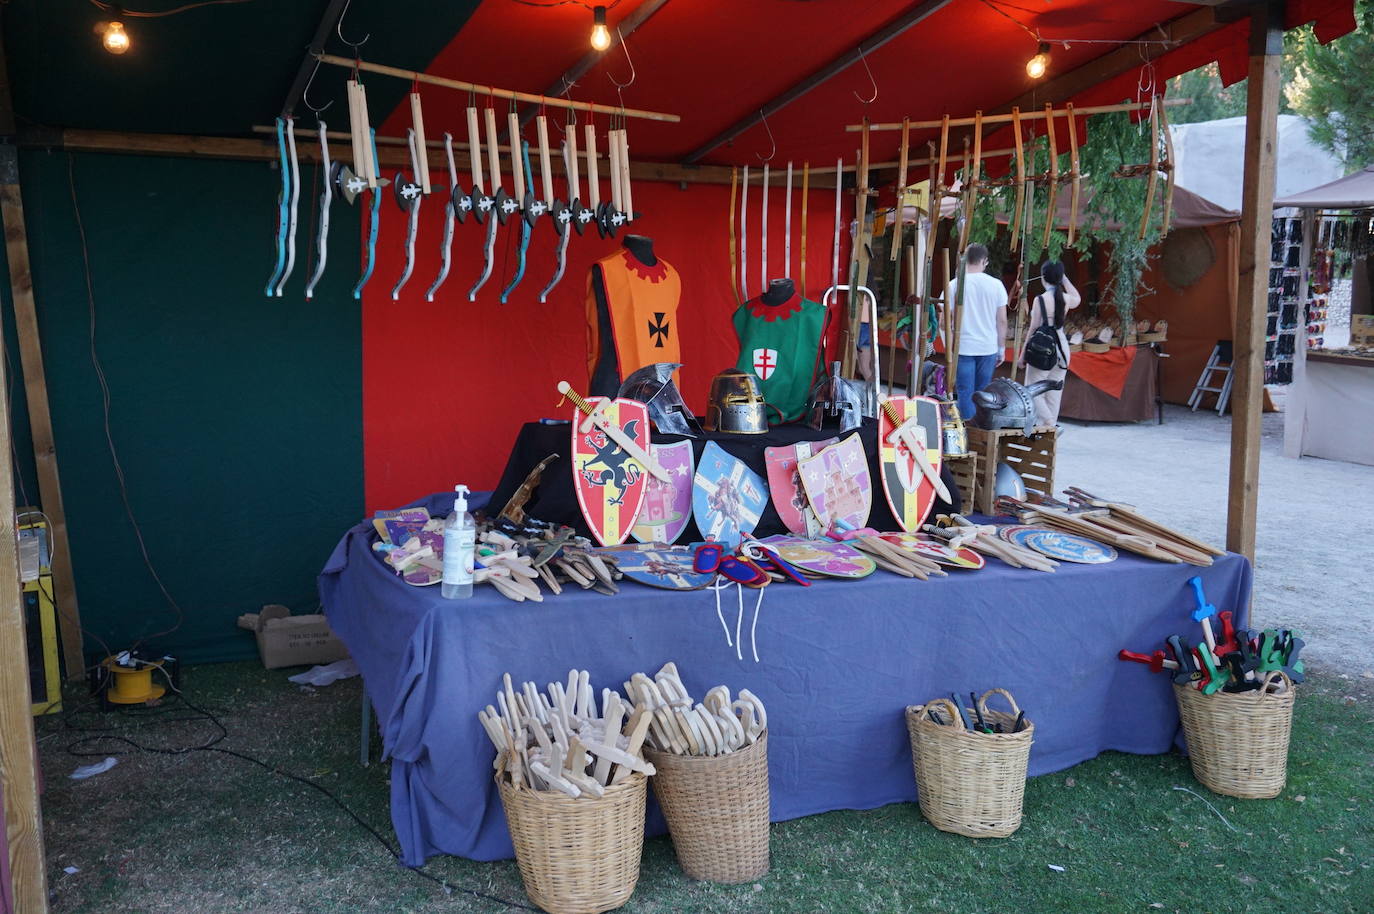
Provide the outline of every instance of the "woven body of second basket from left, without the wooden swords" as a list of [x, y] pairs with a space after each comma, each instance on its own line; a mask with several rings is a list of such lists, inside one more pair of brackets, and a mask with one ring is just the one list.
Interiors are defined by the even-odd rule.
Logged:
[[768, 873], [768, 731], [738, 752], [679, 756], [646, 749], [654, 796], [683, 873], [749, 882]]

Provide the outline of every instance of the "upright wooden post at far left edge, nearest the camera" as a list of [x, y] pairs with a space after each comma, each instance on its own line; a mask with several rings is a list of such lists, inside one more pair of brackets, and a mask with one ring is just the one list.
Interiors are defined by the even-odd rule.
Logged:
[[[14, 146], [0, 146], [0, 172], [5, 179], [0, 183], [0, 205], [4, 206], [5, 239], [11, 242], [7, 245], [10, 275], [16, 276], [14, 243], [8, 231], [12, 212], [11, 195], [15, 198], [19, 195], [18, 183], [10, 180], [10, 176], [15, 173]], [[19, 227], [21, 230], [23, 227], [22, 214]], [[23, 241], [22, 232], [19, 241], [21, 243]], [[27, 280], [27, 257], [23, 265], [23, 279]], [[16, 287], [16, 305], [18, 297]], [[33, 302], [32, 286], [29, 302], [30, 305]], [[7, 389], [4, 364], [0, 363], [0, 390], [4, 389]], [[34, 444], [37, 441], [36, 433]], [[0, 454], [3, 454], [0, 456], [0, 792], [4, 794], [4, 833], [10, 845], [14, 914], [40, 914], [48, 910], [48, 880], [47, 863], [43, 856], [38, 749], [33, 737], [33, 698], [29, 690], [29, 651], [25, 647], [23, 594], [19, 587], [19, 546], [15, 539], [11, 447], [10, 403], [7, 397], [0, 397]], [[66, 628], [63, 628], [65, 632]], [[80, 661], [76, 671], [81, 672]]]

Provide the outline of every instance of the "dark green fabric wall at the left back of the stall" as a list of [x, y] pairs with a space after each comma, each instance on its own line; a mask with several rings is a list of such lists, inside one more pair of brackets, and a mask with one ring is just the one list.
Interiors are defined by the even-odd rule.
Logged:
[[[155, 646], [250, 657], [239, 613], [317, 606], [315, 576], [363, 510], [359, 235], [337, 203], [306, 302], [313, 194], [282, 298], [269, 165], [22, 153], [25, 213], [84, 627], [111, 647], [174, 616], [139, 554], [106, 443], [69, 165], [95, 283], [110, 429], [148, 554], [185, 618]], [[308, 168], [302, 177], [317, 187]], [[16, 478], [37, 499], [4, 287]], [[98, 646], [88, 638], [88, 650]]]

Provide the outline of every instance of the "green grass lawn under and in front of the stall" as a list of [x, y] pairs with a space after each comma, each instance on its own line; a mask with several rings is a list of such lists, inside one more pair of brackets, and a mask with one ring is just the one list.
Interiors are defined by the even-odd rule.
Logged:
[[[394, 844], [387, 764], [357, 763], [359, 680], [302, 691], [257, 664], [188, 669], [190, 701], [242, 752], [327, 788]], [[1161, 683], [1161, 687], [1162, 683]], [[80, 704], [76, 695], [69, 708]], [[440, 858], [405, 870], [319, 792], [214, 752], [213, 724], [180, 701], [40, 722], [43, 812], [54, 911], [401, 913], [529, 906], [514, 862]], [[668, 838], [644, 845], [622, 911], [1374, 911], [1374, 682], [1309, 673], [1300, 686], [1289, 783], [1276, 800], [1231, 800], [1179, 755], [1106, 753], [1026, 786], [1010, 838], [937, 832], [912, 804], [830, 812], [772, 829], [757, 884], [687, 880]], [[98, 731], [78, 730], [99, 728]], [[78, 742], [87, 741], [87, 742]], [[89, 781], [82, 759], [118, 755]], [[1206, 797], [1226, 821], [1187, 793]], [[1063, 873], [1048, 865], [1065, 867]], [[76, 873], [67, 873], [76, 867]]]

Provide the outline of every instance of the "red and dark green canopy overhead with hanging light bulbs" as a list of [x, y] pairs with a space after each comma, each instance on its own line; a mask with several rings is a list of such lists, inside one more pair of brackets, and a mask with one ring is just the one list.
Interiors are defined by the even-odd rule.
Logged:
[[[110, 14], [87, 0], [11, 0], [3, 5], [11, 71], [62, 74], [15, 81], [19, 122], [30, 132], [246, 135], [280, 113], [331, 5], [250, 0], [135, 18], [128, 26], [133, 47], [114, 56], [92, 36]], [[1172, 0], [609, 3], [609, 25], [613, 36], [624, 30], [628, 56], [618, 44], [589, 54], [588, 5], [352, 0], [341, 30], [326, 32], [324, 49], [352, 58], [345, 40], [371, 36], [356, 51], [368, 62], [550, 95], [562, 93], [563, 77], [576, 71], [567, 89], [573, 99], [682, 115], [677, 124], [632, 124], [638, 162], [757, 165], [775, 150], [774, 164], [809, 159], [812, 166], [838, 157], [852, 164], [859, 137], [844, 126], [864, 115], [900, 121], [1013, 104], [1030, 111], [1047, 102], [1114, 103], [1136, 98], [1142, 78], [1162, 89], [1168, 77], [1213, 60], [1234, 82], [1245, 77], [1248, 60], [1243, 16]], [[146, 7], [170, 4], [147, 0]], [[1289, 0], [1285, 25], [1307, 22], [1323, 41], [1344, 34], [1355, 27], [1353, 0]], [[1052, 43], [1048, 76], [1039, 81], [1025, 71], [1036, 34]], [[334, 103], [326, 115], [331, 124], [346, 122], [346, 76], [323, 66], [309, 89], [311, 104]], [[364, 81], [372, 120], [383, 124], [408, 81], [374, 74]], [[616, 82], [628, 85], [617, 89]], [[434, 125], [463, 122], [467, 92], [422, 92]], [[305, 104], [297, 113], [309, 117]], [[382, 129], [404, 133], [405, 118], [397, 111]], [[562, 125], [561, 115], [552, 120]], [[605, 126], [606, 118], [596, 121]], [[933, 133], [914, 132], [912, 140], [923, 146]], [[894, 158], [897, 143], [896, 132], [874, 135], [877, 161]]]

